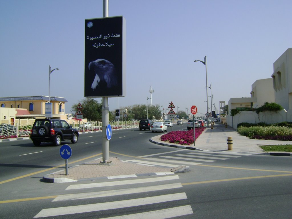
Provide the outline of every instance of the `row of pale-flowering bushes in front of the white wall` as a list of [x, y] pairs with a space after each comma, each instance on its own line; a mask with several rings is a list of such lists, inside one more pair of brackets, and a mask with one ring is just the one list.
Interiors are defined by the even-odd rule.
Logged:
[[292, 128], [285, 126], [240, 126], [237, 128], [240, 135], [253, 139], [287, 140], [292, 139]]

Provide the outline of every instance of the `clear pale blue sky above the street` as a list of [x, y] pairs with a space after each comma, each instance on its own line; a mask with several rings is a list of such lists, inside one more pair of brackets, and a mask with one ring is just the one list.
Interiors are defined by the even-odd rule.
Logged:
[[[219, 101], [251, 97], [292, 47], [291, 8], [291, 0], [109, 0], [109, 17], [126, 19], [126, 97], [109, 98], [109, 110], [146, 105], [152, 87], [152, 105], [205, 114], [205, 65], [194, 62], [205, 56], [218, 112]], [[50, 65], [60, 69], [50, 96], [64, 97], [70, 113], [84, 99], [85, 20], [102, 10], [102, 0], [1, 0], [0, 97], [48, 96]]]

